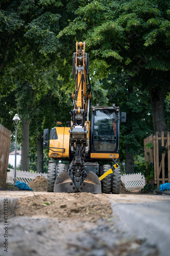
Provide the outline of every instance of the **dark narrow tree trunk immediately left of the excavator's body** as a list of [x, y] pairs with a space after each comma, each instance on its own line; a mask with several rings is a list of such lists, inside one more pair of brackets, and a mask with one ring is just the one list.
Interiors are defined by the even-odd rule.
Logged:
[[37, 173], [43, 173], [43, 133], [37, 137]]

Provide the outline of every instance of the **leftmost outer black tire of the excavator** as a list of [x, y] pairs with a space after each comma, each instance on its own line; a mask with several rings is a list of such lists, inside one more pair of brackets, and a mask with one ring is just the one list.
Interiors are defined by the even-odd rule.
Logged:
[[54, 191], [55, 179], [56, 179], [56, 163], [48, 163], [47, 192]]

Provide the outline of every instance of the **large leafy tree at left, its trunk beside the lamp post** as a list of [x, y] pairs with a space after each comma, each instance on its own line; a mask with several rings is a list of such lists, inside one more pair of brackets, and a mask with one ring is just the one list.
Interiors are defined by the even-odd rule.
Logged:
[[[7, 78], [11, 70], [12, 79], [15, 80], [11, 90], [16, 91], [17, 110], [22, 118], [22, 169], [28, 169], [29, 164], [29, 126], [35, 109], [34, 99], [37, 89], [39, 90], [39, 83], [35, 82], [50, 63], [53, 62], [56, 66], [54, 63], [59, 52], [66, 53], [66, 48], [62, 50], [61, 42], [59, 43], [56, 36], [60, 26], [62, 28], [65, 23], [68, 24], [69, 16], [72, 15], [71, 4], [73, 3], [67, 1], [62, 3], [46, 0], [23, 0], [19, 3], [13, 1], [12, 4], [10, 1], [4, 1], [1, 4], [0, 71], [4, 71], [3, 74]], [[61, 61], [58, 66], [60, 63]], [[1, 89], [2, 85], [3, 83]], [[9, 87], [6, 88], [7, 92], [8, 89]]]

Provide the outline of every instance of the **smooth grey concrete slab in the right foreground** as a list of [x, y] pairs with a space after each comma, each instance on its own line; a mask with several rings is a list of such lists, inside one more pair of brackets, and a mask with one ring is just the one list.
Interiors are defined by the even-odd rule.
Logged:
[[117, 227], [125, 230], [131, 236], [147, 240], [151, 245], [156, 245], [159, 255], [168, 256], [170, 251], [170, 218], [169, 202], [163, 207], [164, 202], [148, 203], [120, 203], [112, 202], [113, 215], [118, 220]]

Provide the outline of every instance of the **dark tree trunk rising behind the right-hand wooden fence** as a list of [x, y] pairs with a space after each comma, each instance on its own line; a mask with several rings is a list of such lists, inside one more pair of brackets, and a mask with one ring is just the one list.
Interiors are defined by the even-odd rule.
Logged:
[[160, 90], [149, 90], [152, 104], [152, 117], [154, 125], [154, 133], [158, 132], [161, 136], [161, 132], [166, 132], [166, 123], [164, 116], [164, 99], [166, 92]]

